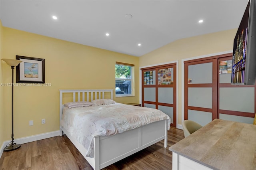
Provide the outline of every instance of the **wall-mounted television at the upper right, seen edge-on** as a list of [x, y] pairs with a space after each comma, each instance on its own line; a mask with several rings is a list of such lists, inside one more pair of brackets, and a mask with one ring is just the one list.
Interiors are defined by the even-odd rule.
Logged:
[[234, 38], [231, 84], [255, 85], [255, 80], [256, 0], [249, 0]]

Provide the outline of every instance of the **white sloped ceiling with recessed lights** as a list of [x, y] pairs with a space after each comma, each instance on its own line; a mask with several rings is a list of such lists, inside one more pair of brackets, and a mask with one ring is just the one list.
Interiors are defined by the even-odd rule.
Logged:
[[238, 28], [247, 2], [0, 0], [0, 18], [5, 27], [141, 56], [181, 38]]

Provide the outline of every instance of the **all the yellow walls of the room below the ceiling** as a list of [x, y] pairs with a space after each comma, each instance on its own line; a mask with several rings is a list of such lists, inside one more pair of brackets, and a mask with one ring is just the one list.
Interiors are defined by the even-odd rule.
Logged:
[[[50, 87], [14, 87], [14, 138], [59, 129], [59, 89], [114, 89], [116, 61], [135, 64], [135, 97], [118, 97], [119, 103], [139, 102], [139, 67], [178, 60], [178, 113], [181, 124], [181, 61], [185, 58], [232, 50], [236, 29], [185, 38], [141, 57], [66, 42], [2, 27], [0, 58], [16, 55], [46, 59]], [[0, 63], [0, 83], [11, 82], [11, 69]], [[16, 74], [14, 73], [14, 77]], [[14, 81], [15, 82], [15, 81]], [[10, 140], [11, 87], [0, 87], [0, 146]], [[46, 119], [46, 124], [41, 124]], [[3, 121], [5, 120], [5, 121]], [[28, 126], [33, 120], [34, 125]]]

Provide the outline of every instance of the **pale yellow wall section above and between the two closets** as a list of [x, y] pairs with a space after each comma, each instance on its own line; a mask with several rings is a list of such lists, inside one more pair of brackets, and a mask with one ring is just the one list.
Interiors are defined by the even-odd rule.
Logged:
[[232, 50], [236, 31], [237, 29], [232, 29], [180, 39], [139, 58], [140, 67], [178, 61], [178, 124], [182, 123], [182, 59]]

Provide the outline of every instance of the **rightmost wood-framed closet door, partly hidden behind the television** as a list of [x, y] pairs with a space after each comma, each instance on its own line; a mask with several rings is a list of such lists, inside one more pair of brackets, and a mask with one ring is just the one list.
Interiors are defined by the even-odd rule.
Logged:
[[255, 85], [231, 85], [232, 57], [218, 59], [218, 118], [252, 124]]

